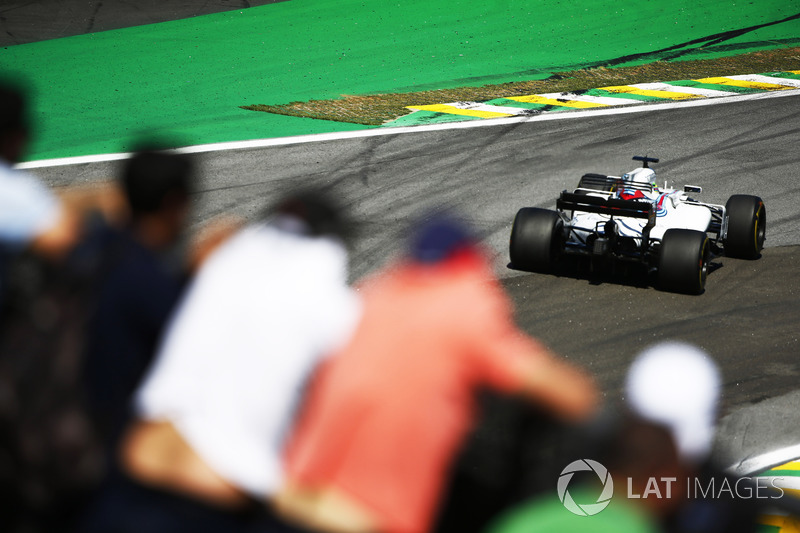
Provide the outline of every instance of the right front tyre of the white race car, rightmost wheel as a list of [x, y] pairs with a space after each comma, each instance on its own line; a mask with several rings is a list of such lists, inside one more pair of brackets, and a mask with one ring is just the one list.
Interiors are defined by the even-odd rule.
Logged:
[[767, 208], [758, 196], [734, 194], [725, 204], [728, 234], [722, 246], [725, 255], [756, 259], [764, 248], [767, 231]]

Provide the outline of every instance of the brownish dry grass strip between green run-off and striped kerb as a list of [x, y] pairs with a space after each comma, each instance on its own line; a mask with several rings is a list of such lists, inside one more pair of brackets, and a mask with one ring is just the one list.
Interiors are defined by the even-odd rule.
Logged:
[[798, 69], [800, 69], [800, 48], [781, 48], [717, 59], [656, 61], [634, 67], [572, 70], [555, 73], [545, 80], [410, 93], [342, 95], [341, 98], [334, 100], [310, 100], [281, 105], [257, 104], [242, 106], [242, 109], [293, 117], [350, 122], [365, 126], [380, 126], [407, 115], [409, 110], [406, 109], [406, 106], [410, 105], [433, 105], [461, 101], [485, 102], [494, 98], [585, 91], [602, 86]]

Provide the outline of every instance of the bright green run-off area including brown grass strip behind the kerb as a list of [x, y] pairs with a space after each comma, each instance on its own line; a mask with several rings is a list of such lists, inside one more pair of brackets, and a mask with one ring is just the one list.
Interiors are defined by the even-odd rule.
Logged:
[[[786, 0], [292, 0], [0, 48], [0, 71], [30, 82], [29, 159], [46, 159], [125, 151], [153, 132], [204, 144], [350, 131], [409, 104], [617, 83], [623, 67], [800, 46], [798, 10]], [[243, 109], [254, 105], [272, 112]]]

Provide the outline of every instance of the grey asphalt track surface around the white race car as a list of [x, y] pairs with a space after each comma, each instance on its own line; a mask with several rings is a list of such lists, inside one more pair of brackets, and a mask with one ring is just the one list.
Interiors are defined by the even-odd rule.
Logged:
[[[35, 2], [34, 4], [46, 4]], [[332, 187], [362, 231], [353, 280], [402, 248], [420, 213], [455, 208], [496, 258], [520, 325], [619, 396], [634, 355], [659, 340], [696, 343], [724, 377], [723, 455], [742, 457], [800, 442], [800, 96], [634, 115], [529, 122], [468, 130], [326, 141], [198, 154], [202, 186], [196, 222], [234, 213], [257, 217], [272, 199], [306, 185]], [[520, 207], [553, 207], [584, 172], [618, 174], [633, 155], [661, 158], [659, 181], [704, 188], [701, 199], [761, 196], [767, 206], [761, 259], [720, 258], [705, 294], [658, 291], [646, 276], [530, 274], [507, 265]], [[53, 185], [106, 179], [118, 163], [38, 169]], [[727, 433], [726, 433], [727, 431]], [[734, 449], [735, 448], [735, 449]]]

